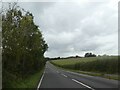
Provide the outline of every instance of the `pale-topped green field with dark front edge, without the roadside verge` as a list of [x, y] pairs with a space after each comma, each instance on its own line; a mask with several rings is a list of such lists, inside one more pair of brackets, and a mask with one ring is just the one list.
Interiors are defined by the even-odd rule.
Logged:
[[118, 56], [60, 59], [52, 60], [51, 63], [66, 69], [107, 74], [118, 74], [118, 68], [120, 68]]

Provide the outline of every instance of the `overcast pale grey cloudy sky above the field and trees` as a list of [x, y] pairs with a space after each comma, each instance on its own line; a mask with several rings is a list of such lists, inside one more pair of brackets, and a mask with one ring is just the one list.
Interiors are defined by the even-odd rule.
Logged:
[[40, 27], [49, 46], [45, 57], [118, 54], [118, 1], [25, 1], [18, 5]]

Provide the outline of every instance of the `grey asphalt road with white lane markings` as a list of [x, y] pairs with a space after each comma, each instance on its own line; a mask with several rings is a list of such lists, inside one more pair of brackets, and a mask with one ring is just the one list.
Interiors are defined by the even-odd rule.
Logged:
[[112, 88], [118, 90], [118, 81], [61, 70], [47, 62], [38, 88], [85, 88], [86, 90]]

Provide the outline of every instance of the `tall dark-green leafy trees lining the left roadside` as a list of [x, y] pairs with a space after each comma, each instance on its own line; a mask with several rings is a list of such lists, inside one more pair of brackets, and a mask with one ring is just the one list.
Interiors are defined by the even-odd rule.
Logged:
[[32, 13], [17, 5], [10, 5], [2, 14], [3, 88], [15, 87], [9, 83], [25, 80], [45, 65], [44, 53], [48, 46], [33, 19]]

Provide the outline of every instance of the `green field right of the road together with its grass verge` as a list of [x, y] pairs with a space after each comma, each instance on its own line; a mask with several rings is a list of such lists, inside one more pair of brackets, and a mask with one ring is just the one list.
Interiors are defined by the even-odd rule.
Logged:
[[50, 61], [53, 65], [72, 72], [120, 80], [118, 56], [61, 59]]

